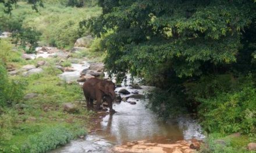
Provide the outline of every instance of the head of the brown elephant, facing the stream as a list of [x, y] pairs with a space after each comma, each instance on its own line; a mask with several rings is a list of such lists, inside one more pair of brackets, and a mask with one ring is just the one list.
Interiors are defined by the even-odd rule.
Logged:
[[106, 96], [111, 97], [112, 100], [116, 99], [115, 83], [112, 81], [102, 80], [99, 90], [104, 92]]

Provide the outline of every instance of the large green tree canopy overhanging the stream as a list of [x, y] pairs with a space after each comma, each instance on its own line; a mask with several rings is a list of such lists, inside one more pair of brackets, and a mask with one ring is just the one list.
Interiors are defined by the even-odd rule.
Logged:
[[179, 78], [222, 71], [237, 61], [256, 6], [249, 0], [102, 0], [99, 5], [103, 14], [81, 24], [104, 35], [105, 65], [118, 78], [128, 71]]

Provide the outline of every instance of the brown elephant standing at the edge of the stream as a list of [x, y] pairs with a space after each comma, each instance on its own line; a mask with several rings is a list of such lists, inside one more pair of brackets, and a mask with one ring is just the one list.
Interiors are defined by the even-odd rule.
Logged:
[[109, 112], [115, 112], [112, 101], [116, 99], [115, 83], [98, 78], [87, 79], [83, 84], [83, 92], [87, 101], [87, 108], [93, 108], [93, 100], [96, 100], [96, 109], [99, 110], [101, 100], [104, 99], [109, 105]]

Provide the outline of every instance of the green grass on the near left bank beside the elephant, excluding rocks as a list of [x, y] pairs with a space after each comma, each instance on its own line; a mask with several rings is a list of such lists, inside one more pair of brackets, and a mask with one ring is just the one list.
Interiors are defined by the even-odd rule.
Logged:
[[[84, 107], [80, 85], [69, 85], [58, 77], [62, 72], [55, 67], [55, 63], [61, 59], [26, 61], [21, 58], [21, 50], [9, 41], [2, 39], [0, 46], [1, 60], [5, 60], [2, 68], [14, 65], [18, 70], [26, 64], [37, 65], [38, 60], [47, 62], [41, 67], [43, 73], [29, 77], [17, 75], [2, 78], [6, 71], [0, 71], [1, 87], [12, 89], [3, 93], [4, 97], [0, 96], [0, 152], [46, 152], [86, 134], [86, 125], [93, 112]], [[28, 93], [37, 96], [23, 99]], [[65, 103], [75, 104], [78, 111], [63, 111]]]

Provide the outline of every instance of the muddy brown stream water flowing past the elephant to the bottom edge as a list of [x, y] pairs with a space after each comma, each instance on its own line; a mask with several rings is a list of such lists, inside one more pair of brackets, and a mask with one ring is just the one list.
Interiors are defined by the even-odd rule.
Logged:
[[[126, 88], [129, 92], [136, 90], [129, 87], [122, 88]], [[142, 86], [142, 88], [137, 89], [139, 94], [145, 94], [152, 89], [149, 86]], [[176, 119], [161, 121], [154, 112], [145, 107], [148, 100], [128, 99], [127, 101], [135, 101], [137, 104], [131, 105], [125, 101], [113, 104], [113, 109], [117, 112], [104, 116], [95, 128], [97, 129], [95, 132], [88, 134], [84, 139], [73, 140], [52, 153], [105, 153], [112, 152], [113, 146], [125, 144], [128, 141], [148, 140], [152, 143], [174, 143], [179, 140], [203, 140], [205, 137], [193, 116], [184, 115]]]

